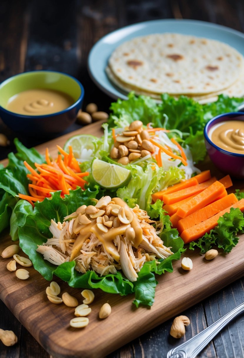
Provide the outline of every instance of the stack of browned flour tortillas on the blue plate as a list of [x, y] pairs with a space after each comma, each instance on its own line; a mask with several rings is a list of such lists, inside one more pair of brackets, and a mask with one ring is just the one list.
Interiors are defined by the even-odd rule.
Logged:
[[244, 96], [244, 57], [216, 40], [181, 34], [151, 34], [114, 50], [106, 73], [126, 92], [160, 100], [161, 93], [201, 103], [225, 93]]

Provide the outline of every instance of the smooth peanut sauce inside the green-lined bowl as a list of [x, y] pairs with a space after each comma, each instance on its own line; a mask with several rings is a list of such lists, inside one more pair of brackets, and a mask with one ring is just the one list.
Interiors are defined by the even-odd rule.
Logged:
[[40, 116], [63, 111], [73, 103], [73, 98], [64, 92], [34, 88], [11, 97], [6, 109], [22, 115]]

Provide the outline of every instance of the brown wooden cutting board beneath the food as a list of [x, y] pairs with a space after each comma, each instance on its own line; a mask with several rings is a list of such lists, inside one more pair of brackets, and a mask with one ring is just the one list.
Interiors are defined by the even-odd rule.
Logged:
[[[101, 122], [49, 141], [37, 149], [44, 153], [48, 146], [50, 154], [55, 157], [56, 144], [63, 146], [71, 135], [79, 133], [101, 136]], [[2, 163], [6, 164], [7, 161]], [[202, 165], [202, 170], [206, 168], [211, 169], [208, 161]], [[214, 167], [212, 174], [221, 178]], [[243, 187], [241, 184], [236, 183], [236, 188]], [[11, 245], [11, 239], [6, 229], [1, 233], [0, 253], [8, 245]], [[33, 267], [28, 268], [28, 280], [19, 280], [15, 272], [8, 271], [6, 264], [10, 258], [0, 258], [0, 298], [53, 358], [99, 358], [242, 277], [243, 252], [244, 235], [231, 253], [220, 253], [213, 261], [206, 261], [197, 251], [187, 250], [185, 255], [192, 259], [193, 269], [184, 271], [180, 261], [175, 261], [173, 273], [158, 276], [155, 303], [151, 308], [136, 309], [132, 304], [133, 295], [121, 297], [94, 290], [95, 300], [90, 305], [92, 312], [88, 316], [89, 324], [83, 329], [69, 326], [70, 319], [74, 317], [74, 308], [48, 301], [45, 290], [49, 281]], [[82, 289], [73, 289], [57, 277], [54, 280], [59, 283], [61, 294], [69, 292], [78, 299], [79, 304], [82, 303]], [[106, 302], [111, 305], [112, 313], [107, 319], [100, 320], [98, 312]]]

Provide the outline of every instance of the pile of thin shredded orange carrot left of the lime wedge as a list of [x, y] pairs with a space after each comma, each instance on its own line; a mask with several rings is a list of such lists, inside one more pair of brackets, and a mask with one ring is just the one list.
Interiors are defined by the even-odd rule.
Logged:
[[78, 161], [74, 157], [72, 147], [69, 147], [69, 153], [66, 153], [62, 147], [57, 145], [58, 154], [56, 160], [52, 160], [49, 156], [48, 148], [45, 150], [46, 163], [35, 163], [36, 169], [33, 169], [26, 161], [25, 167], [30, 171], [26, 176], [30, 180], [30, 195], [19, 194], [21, 199], [27, 200], [34, 206], [34, 202], [43, 201], [50, 198], [50, 193], [61, 190], [60, 196], [64, 197], [69, 194], [69, 190], [77, 187], [84, 189], [86, 180], [84, 176], [89, 175], [88, 172], [82, 173]]

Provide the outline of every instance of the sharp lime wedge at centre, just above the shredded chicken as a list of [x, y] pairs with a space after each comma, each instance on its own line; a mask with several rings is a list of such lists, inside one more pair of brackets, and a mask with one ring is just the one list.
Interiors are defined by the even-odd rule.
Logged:
[[103, 188], [122, 188], [131, 180], [130, 170], [100, 159], [93, 160], [91, 169], [93, 179]]

